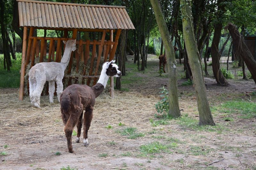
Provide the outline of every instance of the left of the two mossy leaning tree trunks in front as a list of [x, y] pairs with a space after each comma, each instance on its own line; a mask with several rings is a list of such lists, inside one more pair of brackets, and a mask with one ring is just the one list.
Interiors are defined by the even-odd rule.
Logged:
[[167, 65], [169, 70], [169, 115], [171, 115], [173, 118], [177, 118], [180, 117], [180, 108], [177, 89], [177, 64], [175, 60], [174, 48], [172, 46], [172, 42], [170, 42], [168, 28], [166, 26], [164, 16], [158, 1], [150, 0], [150, 3], [155, 13], [156, 22], [166, 52]]

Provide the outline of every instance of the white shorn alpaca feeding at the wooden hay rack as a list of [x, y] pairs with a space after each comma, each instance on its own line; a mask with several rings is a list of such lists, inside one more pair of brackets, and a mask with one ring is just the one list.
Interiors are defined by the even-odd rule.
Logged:
[[63, 91], [62, 79], [64, 71], [68, 66], [71, 51], [76, 50], [76, 40], [63, 41], [66, 48], [60, 63], [37, 63], [29, 70], [29, 97], [31, 104], [40, 107], [40, 96], [46, 81], [49, 82], [49, 100], [53, 103], [53, 95], [55, 92], [55, 81], [57, 84], [57, 96], [60, 102], [60, 93]]

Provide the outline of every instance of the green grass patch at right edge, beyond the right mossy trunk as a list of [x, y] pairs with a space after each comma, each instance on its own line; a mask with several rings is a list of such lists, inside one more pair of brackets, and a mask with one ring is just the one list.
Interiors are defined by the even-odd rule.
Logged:
[[250, 119], [256, 117], [256, 103], [246, 101], [227, 101], [221, 104], [220, 112], [236, 114], [240, 118]]

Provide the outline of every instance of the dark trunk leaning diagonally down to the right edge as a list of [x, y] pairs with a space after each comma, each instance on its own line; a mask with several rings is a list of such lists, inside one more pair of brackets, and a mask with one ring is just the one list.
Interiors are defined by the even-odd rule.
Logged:
[[227, 26], [229, 33], [231, 34], [233, 45], [236, 47], [237, 53], [243, 58], [248, 70], [252, 74], [252, 78], [256, 83], [256, 61], [254, 60], [252, 53], [244, 42], [244, 38], [236, 29], [233, 24]]

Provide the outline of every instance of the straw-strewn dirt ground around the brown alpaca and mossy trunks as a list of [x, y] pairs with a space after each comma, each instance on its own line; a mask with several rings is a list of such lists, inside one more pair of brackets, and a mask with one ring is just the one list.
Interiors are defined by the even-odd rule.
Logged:
[[[158, 61], [155, 55], [148, 56], [146, 71], [135, 72], [134, 80], [142, 77], [140, 82], [124, 85], [129, 92], [115, 91], [115, 99], [104, 92], [96, 99], [89, 146], [76, 143], [76, 136], [72, 136], [72, 154], [67, 149], [56, 98], [50, 104], [48, 97], [42, 96], [41, 107], [35, 108], [28, 97], [18, 100], [18, 89], [0, 89], [0, 152], [6, 153], [0, 155], [0, 169], [256, 169], [255, 117], [234, 116], [234, 121], [226, 122], [225, 113], [217, 110], [213, 112], [216, 128], [194, 129], [180, 123], [182, 119], [152, 125], [152, 120], [159, 120], [154, 116], [159, 88], [168, 86], [167, 73], [159, 76]], [[132, 56], [128, 56], [127, 65], [132, 63]], [[232, 66], [230, 69], [237, 71]], [[132, 72], [132, 68], [127, 66], [126, 71]], [[229, 80], [227, 87], [219, 86], [212, 77], [211, 66], [208, 71], [210, 76], [205, 83], [212, 107], [236, 98], [249, 100], [245, 92], [256, 91], [253, 80], [242, 78]], [[182, 73], [183, 65], [178, 64], [178, 75]], [[181, 114], [195, 120], [196, 126], [199, 118], [194, 88], [181, 86], [184, 81], [179, 77]], [[143, 135], [129, 139], [119, 133], [127, 127], [137, 128]], [[158, 142], [172, 146], [156, 153], [142, 151], [142, 146]]]

